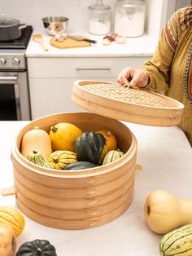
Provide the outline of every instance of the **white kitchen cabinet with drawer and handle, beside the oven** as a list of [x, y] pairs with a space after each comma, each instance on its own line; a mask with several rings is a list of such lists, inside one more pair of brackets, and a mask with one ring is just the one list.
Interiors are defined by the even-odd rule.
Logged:
[[71, 99], [76, 80], [116, 82], [120, 70], [129, 65], [139, 68], [148, 58], [28, 58], [32, 118], [51, 113], [84, 111]]

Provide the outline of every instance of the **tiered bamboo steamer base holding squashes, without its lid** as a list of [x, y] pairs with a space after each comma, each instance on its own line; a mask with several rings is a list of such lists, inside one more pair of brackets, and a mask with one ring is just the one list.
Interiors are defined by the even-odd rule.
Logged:
[[[47, 132], [59, 122], [84, 131], [111, 130], [124, 157], [87, 170], [50, 170], [20, 153], [23, 135], [38, 126]], [[94, 113], [59, 113], [31, 121], [12, 144], [15, 199], [37, 223], [63, 229], [97, 227], [123, 214], [133, 200], [137, 140], [122, 122]]]

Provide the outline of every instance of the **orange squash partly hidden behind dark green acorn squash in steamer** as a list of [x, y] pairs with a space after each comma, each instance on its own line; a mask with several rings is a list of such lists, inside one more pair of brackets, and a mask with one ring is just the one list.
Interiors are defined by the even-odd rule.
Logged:
[[107, 152], [111, 150], [115, 150], [117, 148], [117, 140], [115, 135], [111, 133], [110, 130], [98, 130], [99, 134], [102, 134], [106, 139], [105, 147], [103, 149], [103, 157], [107, 154]]

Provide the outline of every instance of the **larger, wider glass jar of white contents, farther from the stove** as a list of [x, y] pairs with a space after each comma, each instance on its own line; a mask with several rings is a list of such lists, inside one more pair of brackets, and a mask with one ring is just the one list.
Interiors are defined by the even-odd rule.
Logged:
[[127, 38], [142, 36], [145, 15], [145, 0], [117, 0], [115, 6], [115, 32]]

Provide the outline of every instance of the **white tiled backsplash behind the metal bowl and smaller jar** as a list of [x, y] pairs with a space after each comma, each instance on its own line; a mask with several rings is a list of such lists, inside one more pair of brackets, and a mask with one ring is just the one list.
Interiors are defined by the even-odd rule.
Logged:
[[[48, 15], [63, 15], [69, 18], [68, 30], [87, 30], [88, 7], [94, 0], [0, 0], [0, 13], [33, 25], [33, 29], [44, 31], [41, 18]], [[104, 0], [113, 11], [116, 0]]]

